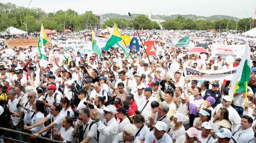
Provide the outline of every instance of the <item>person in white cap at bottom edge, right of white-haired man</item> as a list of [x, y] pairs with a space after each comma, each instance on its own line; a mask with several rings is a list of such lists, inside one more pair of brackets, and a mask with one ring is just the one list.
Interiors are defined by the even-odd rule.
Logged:
[[171, 143], [172, 138], [166, 133], [169, 128], [166, 123], [158, 121], [153, 126], [154, 131], [149, 132], [144, 143]]

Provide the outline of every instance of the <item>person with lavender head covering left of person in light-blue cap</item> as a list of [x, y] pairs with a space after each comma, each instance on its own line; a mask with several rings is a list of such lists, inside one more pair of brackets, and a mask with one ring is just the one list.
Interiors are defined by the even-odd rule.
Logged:
[[184, 125], [185, 129], [188, 129], [193, 126], [194, 120], [198, 113], [198, 109], [194, 104], [189, 104], [187, 106], [188, 113], [184, 116], [182, 124]]

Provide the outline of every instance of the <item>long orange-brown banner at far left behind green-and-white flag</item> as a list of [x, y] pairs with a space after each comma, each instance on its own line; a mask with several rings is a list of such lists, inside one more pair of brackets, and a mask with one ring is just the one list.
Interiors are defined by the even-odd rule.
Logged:
[[[36, 46], [39, 38], [29, 38], [29, 39], [14, 39], [6, 40], [6, 43], [10, 46], [11, 49], [16, 47], [26, 48], [27, 46]], [[51, 46], [51, 37], [48, 37], [48, 42], [44, 46]]]

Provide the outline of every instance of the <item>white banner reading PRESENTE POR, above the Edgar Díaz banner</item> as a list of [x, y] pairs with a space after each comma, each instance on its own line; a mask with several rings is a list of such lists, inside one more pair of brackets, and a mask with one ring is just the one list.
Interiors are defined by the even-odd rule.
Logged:
[[226, 57], [232, 56], [234, 60], [241, 58], [244, 53], [244, 48], [246, 45], [219, 45], [214, 44], [211, 47], [212, 59], [218, 59], [218, 56], [222, 56], [222, 60]]

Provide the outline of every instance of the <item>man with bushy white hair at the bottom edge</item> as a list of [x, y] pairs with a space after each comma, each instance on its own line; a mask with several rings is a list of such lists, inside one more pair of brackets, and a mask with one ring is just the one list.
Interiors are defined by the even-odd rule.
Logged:
[[117, 136], [115, 136], [115, 139], [113, 140], [112, 143], [120, 143], [120, 142], [140, 143], [141, 141], [135, 136], [136, 132], [137, 132], [137, 128], [135, 125], [133, 124], [125, 125], [124, 131], [117, 134]]

